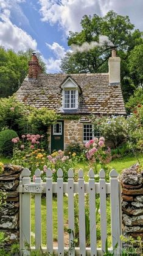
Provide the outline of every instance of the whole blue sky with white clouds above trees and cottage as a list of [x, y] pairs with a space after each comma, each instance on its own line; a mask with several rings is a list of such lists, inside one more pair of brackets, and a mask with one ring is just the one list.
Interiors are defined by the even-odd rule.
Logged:
[[15, 52], [39, 51], [47, 72], [58, 73], [69, 51], [69, 30], [80, 31], [83, 15], [104, 16], [109, 10], [128, 15], [143, 31], [143, 0], [0, 0], [0, 44]]

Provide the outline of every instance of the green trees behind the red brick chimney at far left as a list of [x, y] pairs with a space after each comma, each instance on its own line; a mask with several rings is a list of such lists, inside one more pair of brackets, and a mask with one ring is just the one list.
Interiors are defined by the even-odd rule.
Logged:
[[[0, 46], [0, 97], [8, 97], [18, 90], [28, 73], [28, 61], [31, 59], [32, 49], [26, 52], [20, 51], [16, 54], [11, 49], [7, 51]], [[43, 72], [46, 64], [38, 54]]]

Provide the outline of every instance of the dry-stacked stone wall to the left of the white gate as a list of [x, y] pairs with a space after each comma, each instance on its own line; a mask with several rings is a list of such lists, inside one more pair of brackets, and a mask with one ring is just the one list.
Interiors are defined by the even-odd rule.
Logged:
[[[0, 190], [5, 194], [5, 205], [0, 209], [0, 231], [9, 238], [5, 248], [19, 240], [19, 176], [22, 168], [15, 165], [4, 165], [0, 174]], [[1, 245], [0, 245], [1, 246]]]

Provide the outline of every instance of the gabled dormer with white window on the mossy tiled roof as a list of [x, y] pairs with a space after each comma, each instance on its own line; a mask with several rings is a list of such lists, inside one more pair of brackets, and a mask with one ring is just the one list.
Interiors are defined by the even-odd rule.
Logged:
[[75, 80], [68, 76], [61, 88], [63, 89], [63, 109], [78, 108], [78, 95], [81, 93], [81, 88]]

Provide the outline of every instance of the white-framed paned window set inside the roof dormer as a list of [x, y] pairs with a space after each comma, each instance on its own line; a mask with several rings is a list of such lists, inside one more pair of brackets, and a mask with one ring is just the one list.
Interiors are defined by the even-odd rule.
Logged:
[[63, 108], [77, 108], [78, 91], [64, 90], [63, 91]]

